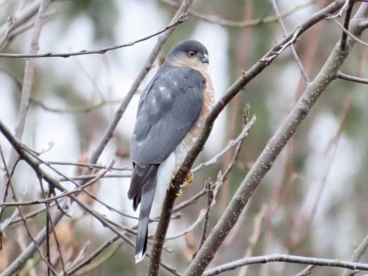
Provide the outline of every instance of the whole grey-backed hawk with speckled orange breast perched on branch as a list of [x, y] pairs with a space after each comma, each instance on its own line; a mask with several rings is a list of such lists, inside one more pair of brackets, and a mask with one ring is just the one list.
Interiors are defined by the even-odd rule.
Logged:
[[[135, 262], [146, 254], [153, 201], [162, 203], [215, 103], [207, 55], [206, 47], [196, 40], [178, 43], [141, 94], [130, 142], [134, 169], [128, 191], [133, 209], [141, 204]], [[181, 187], [192, 176], [190, 172]]]

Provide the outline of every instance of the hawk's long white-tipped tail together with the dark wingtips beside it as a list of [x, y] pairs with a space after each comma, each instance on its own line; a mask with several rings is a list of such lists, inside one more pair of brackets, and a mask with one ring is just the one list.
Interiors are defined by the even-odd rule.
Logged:
[[140, 262], [146, 255], [149, 214], [157, 183], [159, 164], [135, 164], [128, 192], [133, 199], [133, 208], [141, 204], [139, 210], [137, 241], [135, 245], [135, 262]]

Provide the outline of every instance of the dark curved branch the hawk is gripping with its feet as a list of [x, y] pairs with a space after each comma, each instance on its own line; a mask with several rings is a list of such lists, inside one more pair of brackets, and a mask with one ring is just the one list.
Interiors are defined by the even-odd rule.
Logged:
[[[176, 193], [178, 191], [178, 187], [181, 183], [183, 183], [185, 176], [187, 176], [187, 173], [189, 172], [192, 164], [194, 163], [194, 160], [199, 155], [199, 152], [202, 151], [202, 148], [207, 141], [210, 132], [212, 131], [213, 124], [219, 116], [220, 112], [224, 109], [224, 107], [230, 102], [231, 99], [234, 98], [234, 96], [237, 95], [241, 90], [244, 89], [244, 86], [248, 84], [254, 77], [256, 77], [258, 74], [260, 74], [263, 69], [265, 69], [272, 60], [277, 56], [278, 53], [280, 53], [282, 50], [286, 49], [287, 46], [289, 46], [291, 43], [290, 41], [295, 41], [298, 36], [300, 36], [302, 33], [304, 33], [307, 29], [311, 28], [314, 24], [317, 22], [323, 20], [326, 18], [326, 16], [330, 13], [334, 13], [335, 11], [339, 10], [343, 6], [343, 2], [338, 3], [332, 3], [326, 8], [324, 8], [321, 11], [318, 11], [317, 13], [313, 14], [307, 21], [305, 21], [303, 24], [298, 26], [293, 32], [291, 32], [286, 38], [284, 38], [281, 42], [277, 43], [260, 61], [258, 61], [249, 71], [244, 72], [243, 75], [227, 90], [225, 95], [219, 100], [219, 102], [216, 103], [212, 111], [209, 113], [208, 117], [206, 118], [206, 122], [204, 125], [204, 128], [202, 129], [201, 135], [195, 142], [195, 145], [188, 153], [187, 157], [185, 158], [183, 164], [181, 164], [180, 170], [177, 172], [176, 176], [174, 177], [173, 184], [177, 188], [169, 188], [169, 191], [166, 193], [166, 198], [164, 200], [163, 206], [162, 206], [162, 212], [160, 215], [159, 223], [156, 229], [155, 238], [153, 241], [153, 247], [151, 251], [151, 258], [149, 260], [149, 273], [152, 275], [157, 275], [158, 273], [158, 265], [160, 259], [161, 259], [161, 253], [163, 248], [163, 241], [164, 237], [166, 236], [167, 229], [169, 227], [170, 223], [170, 216], [173, 210], [174, 202], [176, 199]], [[277, 53], [277, 54], [275, 54]], [[235, 224], [236, 219], [234, 219], [230, 224], [231, 227]], [[230, 231], [229, 229], [229, 231]], [[227, 230], [226, 230], [227, 231]], [[228, 233], [228, 232], [227, 232]], [[218, 233], [217, 233], [218, 234]], [[212, 235], [212, 234], [211, 234]], [[206, 243], [209, 243], [209, 240], [212, 239], [210, 237], [207, 239]], [[226, 234], [220, 234], [222, 238], [226, 237]], [[205, 243], [205, 244], [206, 244]], [[219, 244], [212, 244], [212, 246], [219, 247]], [[206, 245], [204, 245], [201, 249], [201, 251], [206, 250]], [[212, 254], [214, 255], [216, 252], [216, 248], [211, 248]], [[203, 258], [202, 254], [203, 252], [199, 251], [198, 255], [196, 256], [196, 259]], [[201, 271], [203, 272], [205, 267], [208, 265], [209, 261], [213, 258], [210, 257], [208, 261], [204, 261], [203, 266], [201, 268]], [[207, 263], [208, 262], [208, 263]], [[190, 269], [193, 269], [197, 267], [198, 263], [196, 261], [191, 263]], [[201, 264], [202, 265], [202, 264]], [[192, 274], [192, 273], [190, 273]], [[192, 275], [200, 275], [201, 273], [193, 273]]]

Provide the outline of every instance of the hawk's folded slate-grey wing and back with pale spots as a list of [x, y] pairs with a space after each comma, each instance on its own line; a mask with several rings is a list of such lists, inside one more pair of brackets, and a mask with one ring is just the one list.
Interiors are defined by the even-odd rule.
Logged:
[[189, 67], [164, 65], [141, 95], [130, 158], [160, 164], [197, 121], [206, 79]]

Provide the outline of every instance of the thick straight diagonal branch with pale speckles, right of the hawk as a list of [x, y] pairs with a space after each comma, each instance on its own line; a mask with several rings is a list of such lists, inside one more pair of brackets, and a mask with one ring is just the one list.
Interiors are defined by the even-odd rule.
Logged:
[[[368, 3], [362, 3], [354, 19], [351, 21], [351, 29], [354, 35], [359, 36], [364, 30], [364, 28], [360, 27], [359, 21], [367, 21], [368, 17], [364, 17], [364, 13], [367, 12], [367, 10]], [[298, 126], [308, 115], [322, 92], [331, 81], [336, 79], [340, 67], [354, 44], [355, 40], [348, 39], [347, 47], [342, 51], [340, 50], [340, 43], [337, 43], [319, 74], [314, 81], [307, 85], [304, 94], [301, 96], [296, 106], [291, 110], [275, 135], [269, 140], [266, 148], [244, 178], [237, 192], [234, 194], [234, 197], [231, 199], [230, 204], [227, 206], [226, 211], [213, 228], [206, 243], [198, 252], [198, 255], [191, 263], [185, 275], [201, 275], [204, 272], [204, 269], [212, 261], [224, 238], [237, 222], [241, 211], [244, 209], [254, 190], [272, 167], [276, 157], [294, 135]]]

